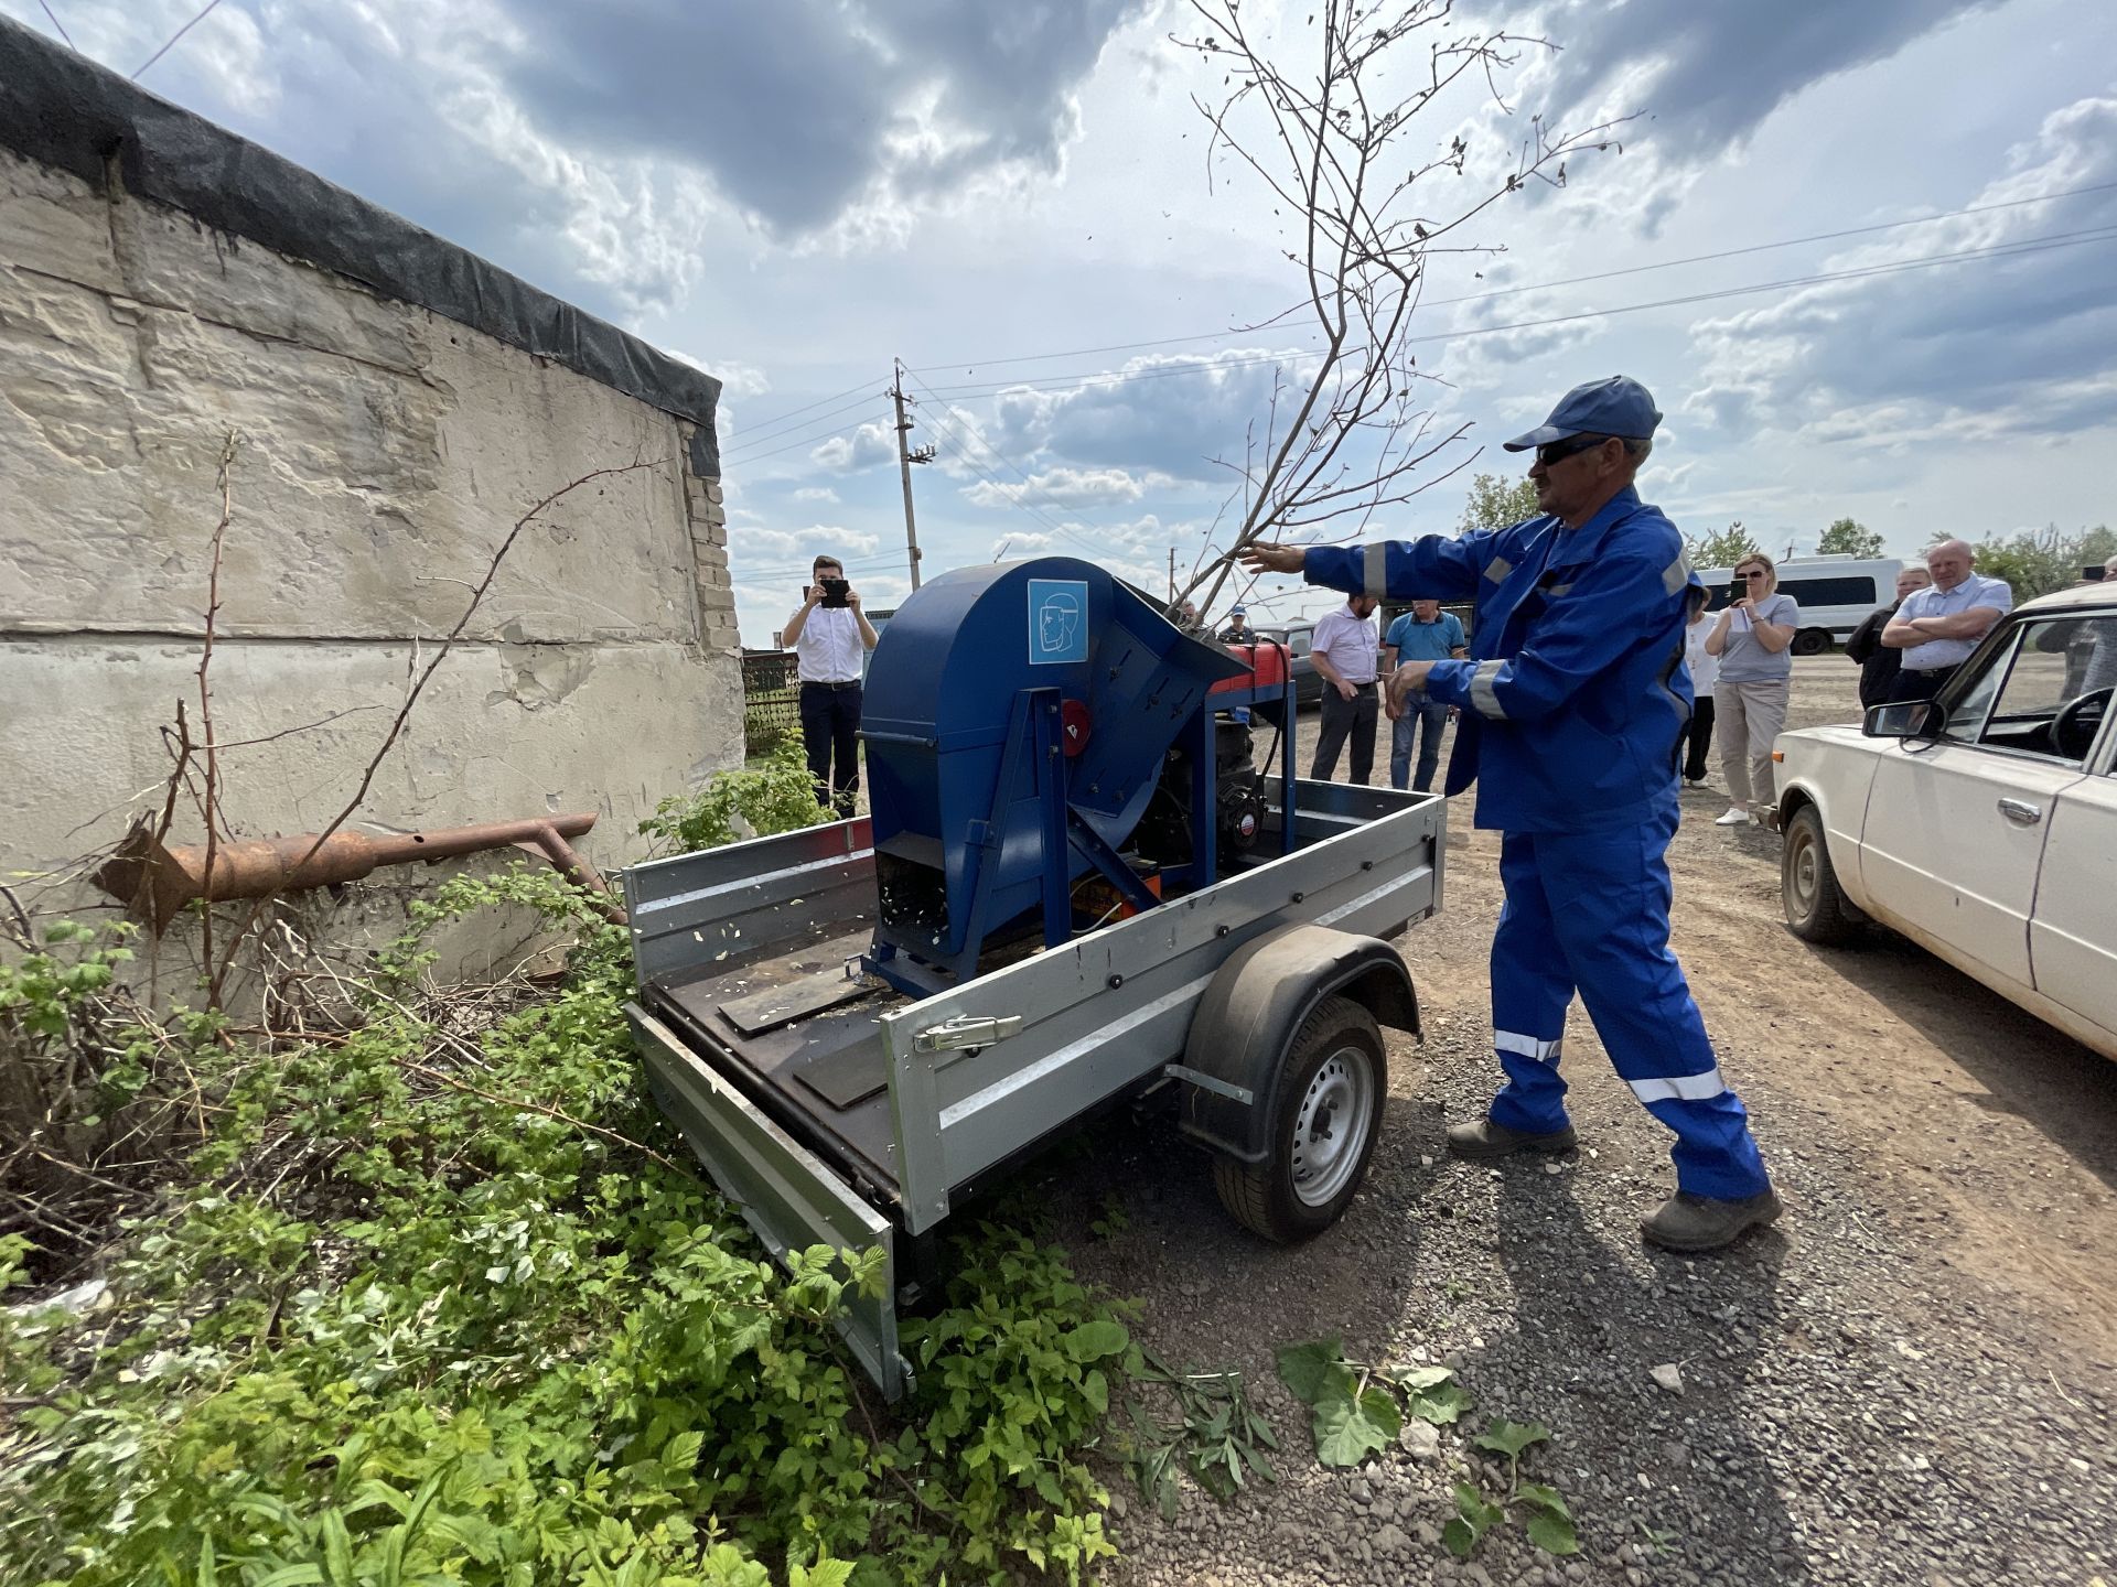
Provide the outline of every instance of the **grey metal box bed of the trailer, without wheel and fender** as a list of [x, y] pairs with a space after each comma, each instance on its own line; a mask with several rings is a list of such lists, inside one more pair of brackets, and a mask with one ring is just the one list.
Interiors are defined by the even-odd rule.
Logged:
[[[1446, 802], [1300, 783], [1257, 851], [1213, 887], [912, 999], [860, 973], [874, 927], [864, 819], [635, 865], [639, 971], [627, 1009], [648, 1077], [766, 1244], [891, 1246], [980, 1174], [1162, 1077], [1241, 946], [1291, 925], [1393, 935], [1440, 901]], [[891, 1270], [891, 1282], [893, 1270]], [[895, 1295], [847, 1337], [902, 1388]]]

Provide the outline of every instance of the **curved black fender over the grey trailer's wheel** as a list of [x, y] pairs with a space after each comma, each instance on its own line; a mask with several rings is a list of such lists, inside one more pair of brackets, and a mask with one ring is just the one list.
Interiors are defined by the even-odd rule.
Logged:
[[1236, 948], [1198, 999], [1175, 1069], [1177, 1128], [1236, 1162], [1264, 1162], [1287, 1047], [1332, 995], [1365, 1005], [1376, 1024], [1421, 1035], [1418, 990], [1387, 942], [1319, 925], [1270, 931]]

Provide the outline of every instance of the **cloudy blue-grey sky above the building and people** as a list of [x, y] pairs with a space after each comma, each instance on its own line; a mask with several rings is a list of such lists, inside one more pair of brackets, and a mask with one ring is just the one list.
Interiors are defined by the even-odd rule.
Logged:
[[[0, 0], [123, 72], [197, 8]], [[1285, 11], [1243, 15], [1300, 38]], [[1429, 260], [1425, 398], [1469, 432], [1370, 535], [1452, 527], [1471, 474], [1516, 470], [1499, 440], [1620, 370], [1668, 415], [1645, 493], [1685, 529], [1810, 550], [1852, 514], [1914, 550], [2117, 518], [2117, 6], [1480, 0], [1435, 36], [1469, 25], [1556, 49], [1404, 131], [1406, 159], [1469, 146], [1425, 214], [1490, 190], [1533, 116], [1630, 121]], [[1052, 550], [1158, 582], [1207, 542], [1315, 336], [1279, 317], [1285, 218], [1209, 171], [1219, 72], [1171, 32], [1175, 0], [222, 0], [142, 83], [720, 375], [768, 643], [817, 550], [872, 605], [908, 588], [893, 358], [936, 449], [927, 571]]]

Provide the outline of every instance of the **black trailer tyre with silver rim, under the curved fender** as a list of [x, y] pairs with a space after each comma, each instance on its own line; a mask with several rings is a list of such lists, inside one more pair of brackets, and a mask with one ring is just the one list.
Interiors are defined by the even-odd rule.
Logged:
[[1270, 1155], [1217, 1157], [1213, 1187], [1236, 1223], [1291, 1244], [1336, 1223], [1368, 1176], [1389, 1094], [1374, 1016], [1349, 997], [1317, 1003], [1287, 1045], [1274, 1092]]

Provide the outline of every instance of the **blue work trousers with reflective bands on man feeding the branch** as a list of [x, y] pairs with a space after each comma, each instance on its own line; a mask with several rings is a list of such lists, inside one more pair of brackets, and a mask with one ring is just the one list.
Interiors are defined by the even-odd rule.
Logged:
[[1721, 1079], [1683, 965], [1668, 952], [1677, 802], [1617, 832], [1509, 832], [1492, 935], [1492, 1045], [1507, 1086], [1492, 1121], [1562, 1130], [1558, 1045], [1579, 990], [1611, 1064], [1677, 1132], [1677, 1187], [1738, 1200], [1768, 1187], [1742, 1098]]

